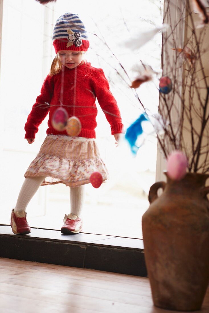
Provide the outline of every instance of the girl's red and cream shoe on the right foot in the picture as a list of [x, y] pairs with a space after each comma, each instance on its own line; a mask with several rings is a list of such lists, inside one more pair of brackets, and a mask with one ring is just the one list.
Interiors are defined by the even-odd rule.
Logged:
[[78, 234], [82, 230], [82, 219], [73, 213], [65, 214], [63, 222], [65, 223], [61, 228], [63, 234]]

